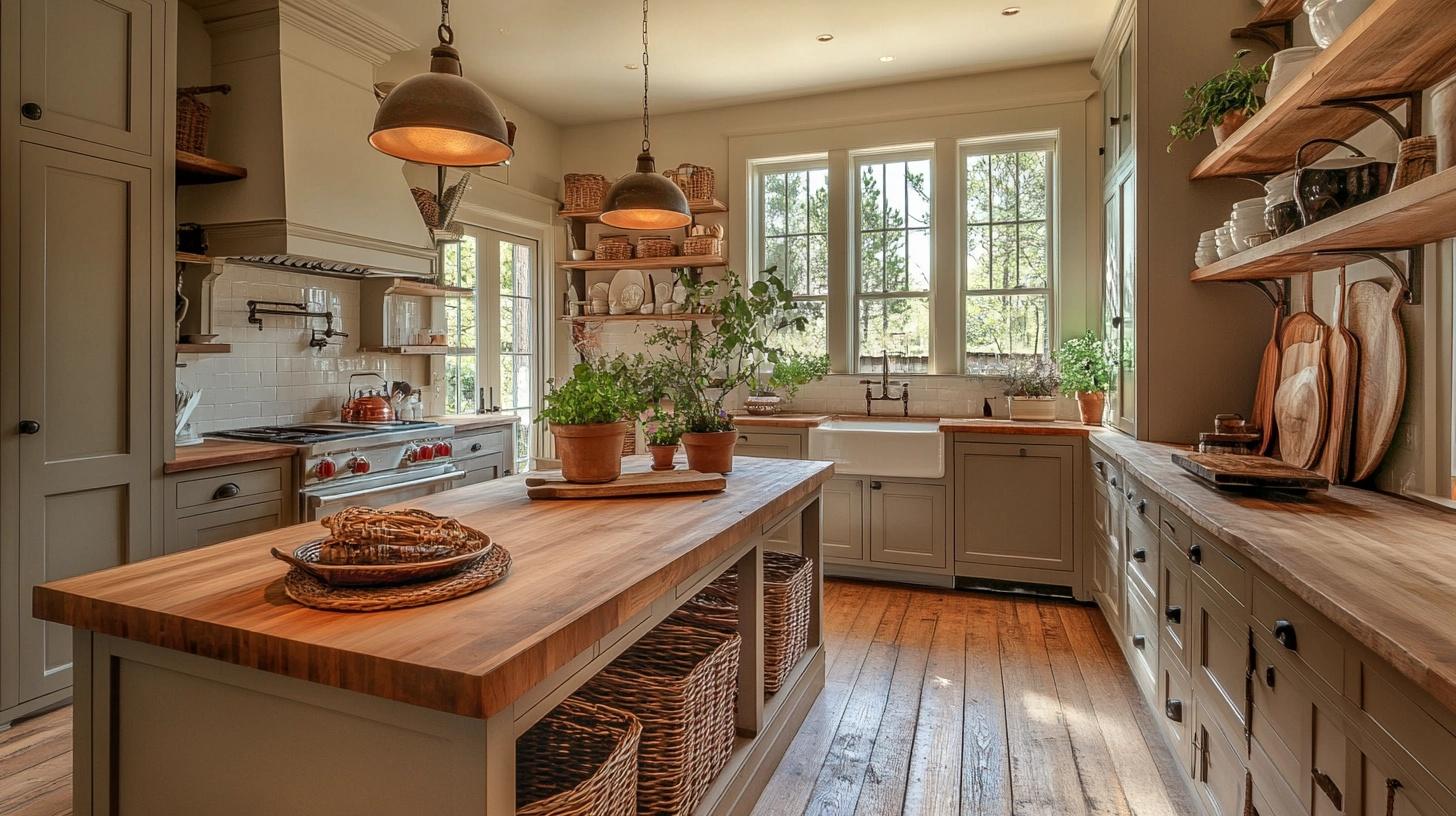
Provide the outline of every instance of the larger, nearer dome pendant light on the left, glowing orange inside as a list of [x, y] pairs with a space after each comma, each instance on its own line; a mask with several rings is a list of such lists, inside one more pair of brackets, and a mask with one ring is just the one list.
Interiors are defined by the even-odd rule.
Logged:
[[440, 45], [430, 73], [415, 74], [384, 96], [370, 144], [406, 162], [446, 168], [501, 165], [515, 153], [505, 118], [480, 86], [464, 79], [450, 28], [450, 0], [440, 1]]

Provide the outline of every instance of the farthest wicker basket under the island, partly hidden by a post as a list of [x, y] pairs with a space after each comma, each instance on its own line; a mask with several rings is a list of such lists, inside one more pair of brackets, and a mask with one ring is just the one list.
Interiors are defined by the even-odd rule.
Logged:
[[[763, 554], [763, 691], [783, 688], [810, 646], [814, 564], [791, 552]], [[673, 622], [721, 632], [738, 631], [738, 570], [731, 568], [695, 595]]]

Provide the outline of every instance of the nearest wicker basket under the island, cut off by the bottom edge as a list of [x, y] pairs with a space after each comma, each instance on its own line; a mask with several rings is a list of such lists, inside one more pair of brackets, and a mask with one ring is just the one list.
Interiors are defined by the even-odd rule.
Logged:
[[515, 740], [517, 816], [636, 813], [642, 723], [568, 697]]

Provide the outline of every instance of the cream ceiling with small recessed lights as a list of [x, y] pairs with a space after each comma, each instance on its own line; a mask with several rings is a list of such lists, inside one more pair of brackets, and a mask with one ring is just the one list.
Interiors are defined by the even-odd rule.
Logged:
[[[352, 0], [422, 45], [438, 0]], [[1115, 0], [658, 0], [652, 111], [1091, 58]], [[1003, 16], [1018, 4], [1022, 12]], [[635, 0], [456, 0], [466, 74], [559, 124], [636, 115], [642, 7]], [[831, 42], [817, 42], [831, 34]], [[894, 57], [882, 61], [881, 57]], [[419, 57], [421, 70], [425, 57]], [[626, 68], [625, 66], [633, 66]]]

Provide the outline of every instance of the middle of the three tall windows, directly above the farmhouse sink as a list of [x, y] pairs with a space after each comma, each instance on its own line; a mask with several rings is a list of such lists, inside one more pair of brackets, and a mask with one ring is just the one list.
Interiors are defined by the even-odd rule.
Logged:
[[930, 157], [862, 157], [856, 207], [855, 361], [930, 370]]

